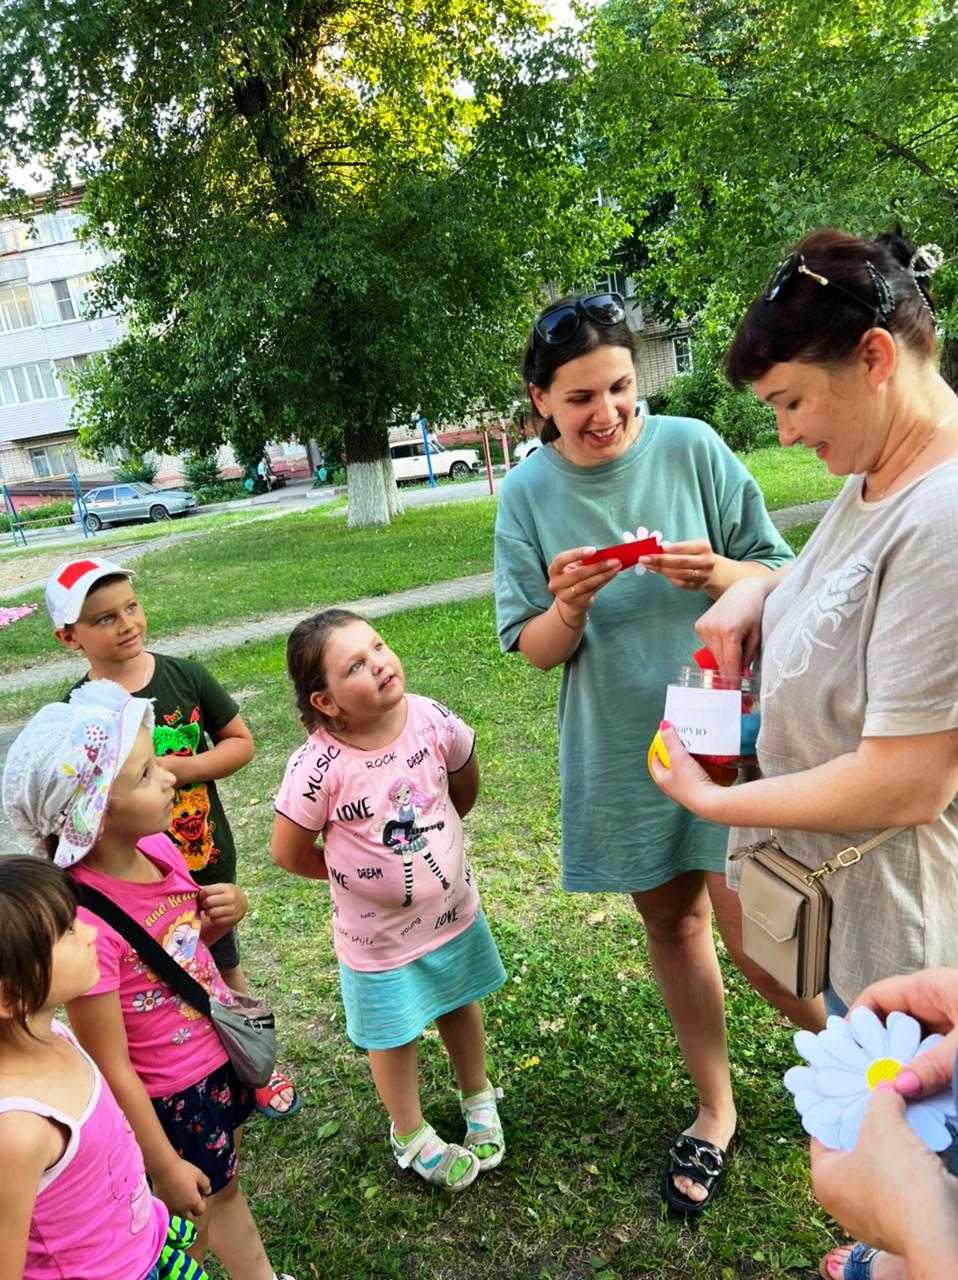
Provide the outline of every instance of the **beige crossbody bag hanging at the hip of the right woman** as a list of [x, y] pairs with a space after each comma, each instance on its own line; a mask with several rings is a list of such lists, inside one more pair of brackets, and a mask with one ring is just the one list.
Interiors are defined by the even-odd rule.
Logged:
[[749, 960], [776, 978], [793, 996], [817, 996], [829, 980], [831, 899], [822, 881], [854, 867], [866, 854], [904, 827], [886, 827], [863, 845], [850, 845], [809, 870], [768, 840], [733, 850], [742, 861], [742, 946]]

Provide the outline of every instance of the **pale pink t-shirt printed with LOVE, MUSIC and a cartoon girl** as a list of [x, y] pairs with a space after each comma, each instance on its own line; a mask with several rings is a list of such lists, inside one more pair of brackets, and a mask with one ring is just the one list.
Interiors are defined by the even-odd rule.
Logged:
[[318, 728], [289, 756], [277, 813], [323, 832], [333, 941], [350, 969], [397, 969], [475, 920], [448, 783], [474, 742], [446, 707], [407, 694], [406, 724], [388, 746], [362, 751]]

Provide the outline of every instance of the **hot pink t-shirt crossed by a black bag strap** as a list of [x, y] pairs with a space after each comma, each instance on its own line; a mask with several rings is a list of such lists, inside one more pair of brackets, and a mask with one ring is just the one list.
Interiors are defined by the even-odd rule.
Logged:
[[[169, 836], [147, 836], [137, 849], [163, 872], [163, 879], [134, 884], [104, 876], [86, 863], [70, 867], [69, 874], [109, 897], [141, 924], [164, 951], [210, 993], [228, 1005], [229, 988], [206, 943], [200, 938], [199, 887]], [[119, 992], [129, 1061], [151, 1098], [181, 1093], [223, 1066], [227, 1052], [209, 1018], [152, 974], [131, 945], [99, 915], [79, 908], [77, 913], [96, 928], [96, 957], [100, 980], [87, 996]]]

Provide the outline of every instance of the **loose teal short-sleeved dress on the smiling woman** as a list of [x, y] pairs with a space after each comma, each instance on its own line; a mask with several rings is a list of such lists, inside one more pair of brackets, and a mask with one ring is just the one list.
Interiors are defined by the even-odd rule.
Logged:
[[[792, 558], [745, 467], [704, 422], [647, 419], [612, 462], [579, 467], [537, 449], [506, 476], [496, 520], [496, 616], [503, 652], [552, 603], [549, 562], [608, 547], [638, 526], [669, 541], [707, 538], [731, 559], [777, 568]], [[699, 648], [711, 604], [661, 575], [624, 570], [596, 596], [558, 699], [562, 884], [631, 893], [686, 870], [725, 870], [726, 828], [695, 818], [654, 785], [645, 754], [666, 685]]]

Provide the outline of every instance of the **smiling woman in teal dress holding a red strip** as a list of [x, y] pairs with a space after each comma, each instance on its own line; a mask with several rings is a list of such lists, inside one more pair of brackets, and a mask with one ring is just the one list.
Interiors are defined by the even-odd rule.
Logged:
[[[697, 1215], [735, 1132], [711, 931], [711, 904], [721, 927], [729, 893], [726, 831], [665, 799], [645, 753], [666, 685], [698, 648], [695, 620], [731, 582], [768, 573], [792, 553], [754, 480], [711, 428], [635, 416], [635, 339], [617, 294], [548, 307], [523, 371], [546, 448], [506, 476], [499, 495], [499, 644], [542, 669], [564, 664], [562, 884], [629, 893], [644, 920], [698, 1093], [692, 1124], [670, 1146], [662, 1196], [674, 1212]], [[669, 541], [644, 572], [580, 563], [640, 527]]]

